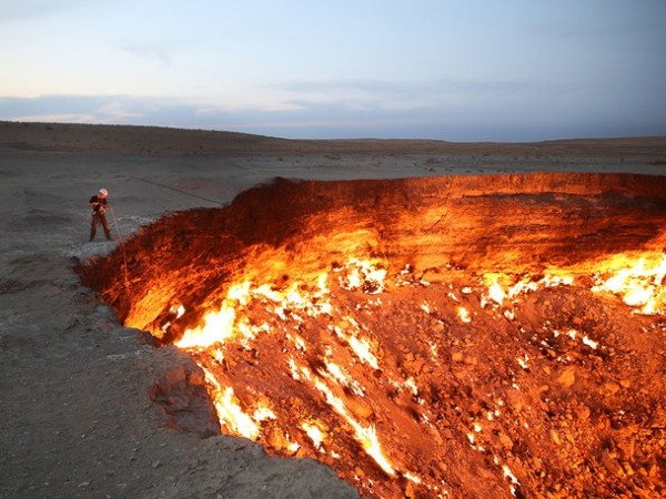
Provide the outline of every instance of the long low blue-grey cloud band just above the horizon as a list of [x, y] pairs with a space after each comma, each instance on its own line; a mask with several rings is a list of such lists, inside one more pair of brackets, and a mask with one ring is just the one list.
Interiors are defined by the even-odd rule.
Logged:
[[[303, 84], [305, 85], [305, 84]], [[325, 86], [325, 85], [324, 85]], [[343, 85], [344, 86], [344, 85]], [[380, 88], [366, 82], [362, 88]], [[455, 90], [456, 84], [444, 85]], [[313, 85], [311, 89], [323, 86]], [[519, 85], [518, 85], [519, 88]], [[301, 86], [304, 90], [305, 86]], [[385, 85], [385, 95], [400, 94], [400, 85]], [[513, 94], [514, 84], [501, 83], [476, 90], [484, 94]], [[408, 93], [408, 92], [407, 92]], [[519, 92], [517, 92], [519, 93]], [[515, 96], [519, 99], [519, 96]], [[487, 98], [486, 98], [487, 99]], [[525, 109], [506, 102], [395, 108], [349, 105], [302, 99], [299, 106], [230, 109], [214, 102], [129, 95], [46, 95], [34, 99], [0, 98], [0, 119], [10, 121], [77, 122], [158, 125], [225, 130], [285, 139], [440, 139], [448, 141], [538, 141], [582, 136], [665, 135], [666, 122], [659, 108], [627, 113], [624, 108], [589, 113], [573, 103], [555, 100]], [[519, 102], [518, 102], [519, 104]], [[566, 109], [565, 109], [566, 108]], [[558, 111], [564, 109], [563, 111]]]

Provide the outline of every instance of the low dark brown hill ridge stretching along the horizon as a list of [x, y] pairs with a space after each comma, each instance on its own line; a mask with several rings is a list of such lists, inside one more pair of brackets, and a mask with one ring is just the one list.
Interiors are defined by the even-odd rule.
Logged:
[[[654, 155], [666, 159], [666, 136], [577, 139], [546, 142], [446, 142], [434, 140], [287, 140], [236, 132], [160, 126], [20, 123], [0, 121], [0, 145], [40, 151], [142, 155], [297, 154], [576, 154]], [[657, 160], [660, 161], [660, 160]]]

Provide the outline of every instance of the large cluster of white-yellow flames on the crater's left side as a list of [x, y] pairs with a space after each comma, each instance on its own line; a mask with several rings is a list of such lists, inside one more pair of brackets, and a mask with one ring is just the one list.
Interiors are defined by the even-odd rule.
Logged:
[[[330, 272], [323, 272], [314, 286], [303, 286], [303, 283], [294, 283], [289, 288], [278, 291], [270, 285], [254, 285], [243, 282], [230, 286], [226, 297], [220, 308], [210, 312], [203, 318], [201, 326], [188, 329], [182, 338], [175, 343], [180, 348], [196, 354], [199, 359], [205, 354], [208, 360], [221, 365], [224, 361], [224, 348], [231, 345], [240, 345], [243, 348], [253, 348], [252, 342], [262, 334], [274, 334], [275, 323], [289, 322], [292, 330], [283, 330], [293, 347], [289, 356], [289, 368], [292, 378], [297, 383], [307, 384], [319, 394], [326, 407], [344, 421], [360, 447], [370, 456], [374, 462], [389, 476], [395, 476], [395, 466], [384, 454], [375, 427], [366, 421], [360, 420], [354, 410], [347, 408], [344, 391], [351, 391], [355, 397], [364, 397], [365, 388], [354, 380], [347, 369], [336, 363], [336, 353], [331, 346], [324, 349], [322, 366], [316, 371], [299, 361], [297, 353], [312, 348], [299, 334], [299, 324], [303, 323], [305, 316], [316, 319], [320, 316], [331, 317], [334, 315], [331, 302], [330, 279], [341, 289], [361, 292], [369, 295], [380, 294], [384, 291], [386, 269], [381, 263], [367, 259], [351, 259], [343, 266], [336, 266]], [[243, 312], [254, 303], [270, 312], [271, 323], [252, 324]], [[330, 325], [331, 333], [339, 338], [340, 343], [346, 345], [354, 363], [369, 366], [379, 370], [379, 360], [375, 355], [376, 345], [362, 334], [362, 327], [352, 317], [344, 317], [337, 324]], [[261, 340], [261, 339], [260, 339]], [[243, 436], [252, 440], [260, 440], [262, 422], [266, 419], [275, 419], [276, 416], [270, 407], [270, 403], [255, 404], [252, 400], [241, 401], [234, 388], [221, 383], [220, 373], [211, 368], [209, 361], [199, 361], [205, 373], [211, 397], [218, 410], [220, 424], [229, 434]], [[310, 417], [302, 421], [300, 430], [310, 440], [316, 452], [326, 452], [326, 424]], [[294, 429], [296, 431], [296, 429]], [[274, 438], [274, 437], [273, 437]], [[281, 435], [281, 447], [290, 452], [296, 452], [302, 446], [293, 435], [285, 432]], [[335, 451], [330, 452], [337, 458]]]

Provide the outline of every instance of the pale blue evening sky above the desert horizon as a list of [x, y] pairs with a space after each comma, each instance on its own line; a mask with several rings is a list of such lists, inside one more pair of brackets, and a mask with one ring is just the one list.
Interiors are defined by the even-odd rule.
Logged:
[[0, 0], [0, 120], [666, 135], [666, 0]]

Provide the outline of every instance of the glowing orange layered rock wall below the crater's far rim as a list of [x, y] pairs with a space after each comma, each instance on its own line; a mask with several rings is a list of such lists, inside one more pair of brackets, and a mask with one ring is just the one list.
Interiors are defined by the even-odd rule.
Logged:
[[[125, 242], [127, 268], [115, 252], [83, 281], [125, 325], [161, 336], [171, 322], [178, 334], [219, 307], [232, 282], [287, 286], [353, 257], [436, 282], [445, 266], [521, 274], [660, 252], [665, 187], [664, 177], [615, 174], [279, 179], [229, 206], [160, 220]], [[175, 322], [178, 305], [186, 313]]]

